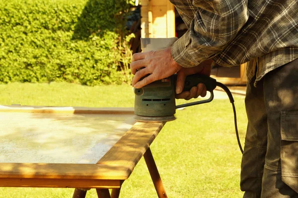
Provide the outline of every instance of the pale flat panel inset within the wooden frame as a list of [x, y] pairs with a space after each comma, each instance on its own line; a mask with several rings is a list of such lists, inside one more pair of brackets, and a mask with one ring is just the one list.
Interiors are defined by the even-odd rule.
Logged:
[[0, 163], [96, 163], [133, 115], [0, 113]]

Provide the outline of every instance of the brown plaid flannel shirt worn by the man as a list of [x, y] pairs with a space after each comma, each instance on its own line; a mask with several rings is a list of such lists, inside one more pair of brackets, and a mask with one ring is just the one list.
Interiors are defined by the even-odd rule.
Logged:
[[[207, 59], [247, 66], [248, 81], [298, 58], [298, 0], [170, 0], [188, 31], [172, 46], [181, 66]], [[255, 70], [257, 66], [257, 71]]]

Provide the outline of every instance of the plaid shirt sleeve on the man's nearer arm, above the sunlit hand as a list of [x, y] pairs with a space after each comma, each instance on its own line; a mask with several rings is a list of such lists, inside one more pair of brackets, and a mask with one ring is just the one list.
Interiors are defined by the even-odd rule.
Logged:
[[219, 54], [246, 23], [247, 0], [171, 0], [189, 28], [172, 46], [183, 67], [197, 66]]

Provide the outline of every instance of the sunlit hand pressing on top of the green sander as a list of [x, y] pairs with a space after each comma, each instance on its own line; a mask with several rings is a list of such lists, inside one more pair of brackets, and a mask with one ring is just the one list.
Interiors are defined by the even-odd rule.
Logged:
[[[178, 65], [172, 57], [171, 47], [136, 53], [133, 55], [131, 63], [131, 71], [135, 75], [132, 84], [135, 88], [141, 88], [153, 81], [166, 78], [181, 68], [182, 66]], [[149, 74], [147, 77], [140, 80], [147, 74]]]

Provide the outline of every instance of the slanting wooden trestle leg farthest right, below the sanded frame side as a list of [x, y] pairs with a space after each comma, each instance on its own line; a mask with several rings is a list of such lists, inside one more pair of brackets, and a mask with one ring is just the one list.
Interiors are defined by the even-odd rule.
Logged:
[[167, 198], [150, 148], [148, 148], [145, 152], [144, 159], [147, 164], [158, 198]]

